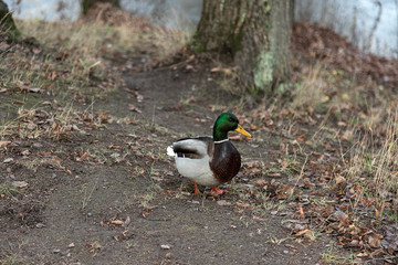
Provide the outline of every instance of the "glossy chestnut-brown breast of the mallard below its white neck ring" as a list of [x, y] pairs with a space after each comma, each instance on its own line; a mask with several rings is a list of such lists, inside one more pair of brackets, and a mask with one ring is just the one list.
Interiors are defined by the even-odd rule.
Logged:
[[240, 155], [229, 140], [221, 144], [214, 144], [214, 152], [210, 160], [210, 169], [221, 183], [231, 180], [238, 173], [240, 167]]

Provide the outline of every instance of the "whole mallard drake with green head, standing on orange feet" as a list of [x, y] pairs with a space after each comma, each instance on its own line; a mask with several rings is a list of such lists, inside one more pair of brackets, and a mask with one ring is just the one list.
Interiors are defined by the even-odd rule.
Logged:
[[176, 160], [178, 172], [195, 182], [195, 194], [199, 193], [197, 183], [211, 186], [212, 193], [221, 194], [223, 191], [217, 186], [230, 181], [238, 173], [241, 157], [228, 139], [230, 130], [251, 137], [237, 116], [223, 113], [216, 119], [212, 138], [185, 138], [167, 148], [167, 155]]

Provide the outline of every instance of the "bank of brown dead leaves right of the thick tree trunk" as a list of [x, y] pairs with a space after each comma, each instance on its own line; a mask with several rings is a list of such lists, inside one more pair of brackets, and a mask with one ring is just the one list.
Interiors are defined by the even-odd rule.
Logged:
[[345, 38], [316, 23], [294, 23], [292, 50], [303, 59], [321, 60], [358, 80], [373, 80], [392, 88], [398, 85], [398, 60], [363, 53]]

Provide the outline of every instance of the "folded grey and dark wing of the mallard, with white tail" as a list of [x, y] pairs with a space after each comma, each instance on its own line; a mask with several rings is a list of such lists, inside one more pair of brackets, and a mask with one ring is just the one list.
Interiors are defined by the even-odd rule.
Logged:
[[211, 137], [185, 138], [172, 142], [167, 155], [178, 158], [201, 159], [212, 157], [213, 140]]

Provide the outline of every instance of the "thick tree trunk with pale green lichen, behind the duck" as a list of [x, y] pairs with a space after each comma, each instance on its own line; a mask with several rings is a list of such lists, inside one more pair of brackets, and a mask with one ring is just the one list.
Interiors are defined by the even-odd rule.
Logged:
[[291, 0], [203, 0], [196, 44], [229, 54], [242, 84], [265, 93], [289, 82]]

